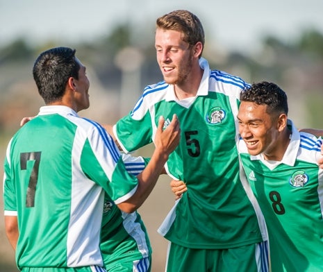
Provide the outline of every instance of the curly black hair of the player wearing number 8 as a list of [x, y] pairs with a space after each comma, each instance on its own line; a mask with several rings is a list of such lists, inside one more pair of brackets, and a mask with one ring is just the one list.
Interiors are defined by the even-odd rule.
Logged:
[[246, 87], [240, 94], [240, 101], [267, 105], [269, 114], [288, 114], [287, 95], [278, 85], [267, 81], [254, 83], [251, 87]]

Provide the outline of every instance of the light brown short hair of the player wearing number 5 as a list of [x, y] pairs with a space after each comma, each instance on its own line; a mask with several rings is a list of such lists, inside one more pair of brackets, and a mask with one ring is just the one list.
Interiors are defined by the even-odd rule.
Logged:
[[199, 18], [188, 10], [174, 10], [156, 20], [156, 28], [183, 33], [183, 41], [189, 46], [201, 42], [204, 47], [204, 28]]

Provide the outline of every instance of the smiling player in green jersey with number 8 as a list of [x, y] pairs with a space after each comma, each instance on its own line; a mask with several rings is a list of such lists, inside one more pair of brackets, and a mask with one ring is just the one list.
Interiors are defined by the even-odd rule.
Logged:
[[299, 133], [274, 83], [255, 83], [240, 99], [240, 157], [265, 216], [272, 271], [323, 271], [322, 138]]

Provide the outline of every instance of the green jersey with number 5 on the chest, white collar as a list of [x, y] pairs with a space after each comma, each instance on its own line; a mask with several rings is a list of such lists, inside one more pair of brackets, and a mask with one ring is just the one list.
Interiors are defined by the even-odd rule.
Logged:
[[165, 167], [169, 176], [186, 182], [188, 192], [158, 231], [188, 248], [254, 244], [266, 239], [266, 232], [251, 190], [240, 181], [237, 149], [236, 115], [247, 84], [210, 71], [203, 58], [200, 65], [204, 75], [197, 96], [178, 101], [173, 85], [149, 85], [133, 111], [113, 127], [114, 133], [125, 152], [134, 151], [152, 142], [160, 115], [167, 126], [177, 114], [181, 142]]

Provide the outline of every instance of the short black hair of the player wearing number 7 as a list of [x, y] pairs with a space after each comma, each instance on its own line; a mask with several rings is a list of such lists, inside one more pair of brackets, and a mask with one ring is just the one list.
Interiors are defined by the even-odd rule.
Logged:
[[40, 53], [33, 65], [33, 78], [46, 104], [62, 99], [70, 77], [78, 79], [76, 50], [56, 47]]

